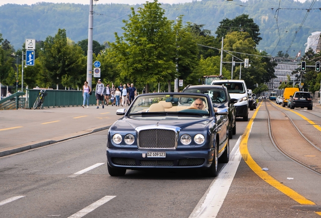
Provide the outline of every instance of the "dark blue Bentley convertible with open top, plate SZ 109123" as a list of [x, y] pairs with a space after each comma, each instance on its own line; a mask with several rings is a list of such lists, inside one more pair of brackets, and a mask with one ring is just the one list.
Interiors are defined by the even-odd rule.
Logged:
[[138, 95], [117, 110], [123, 116], [108, 131], [111, 176], [127, 169], [199, 169], [218, 175], [218, 161], [229, 162], [228, 109], [215, 112], [209, 95], [161, 92]]

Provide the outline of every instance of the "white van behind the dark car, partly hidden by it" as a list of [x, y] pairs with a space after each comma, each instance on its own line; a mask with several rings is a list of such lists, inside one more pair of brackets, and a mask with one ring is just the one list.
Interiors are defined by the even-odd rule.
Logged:
[[212, 85], [226, 86], [231, 98], [237, 99], [234, 103], [236, 117], [242, 117], [243, 121], [248, 121], [248, 91], [244, 80], [214, 80]]

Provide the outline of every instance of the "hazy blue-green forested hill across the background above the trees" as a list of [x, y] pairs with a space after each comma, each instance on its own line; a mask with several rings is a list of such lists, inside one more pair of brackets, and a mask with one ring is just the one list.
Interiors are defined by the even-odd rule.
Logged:
[[[150, 1], [152, 2], [152, 1]], [[279, 3], [281, 2], [280, 9]], [[276, 56], [277, 52], [289, 51], [291, 57], [299, 50], [304, 51], [304, 43], [312, 32], [321, 31], [321, 0], [249, 0], [245, 3], [234, 0], [202, 0], [185, 4], [163, 4], [166, 16], [175, 21], [184, 15], [184, 22], [204, 24], [204, 29], [212, 35], [220, 21], [248, 14], [260, 28], [262, 40], [258, 49]], [[99, 3], [99, 2], [98, 2]], [[94, 6], [93, 39], [103, 43], [115, 41], [114, 32], [122, 33], [122, 20], [128, 20], [130, 9], [142, 5], [97, 4]], [[303, 26], [300, 24], [304, 20]], [[44, 40], [54, 36], [59, 28], [67, 30], [67, 36], [78, 42], [88, 37], [89, 5], [38, 3], [35, 5], [7, 4], [0, 7], [0, 33], [15, 49], [20, 49], [25, 38]], [[296, 33], [296, 31], [300, 30]], [[281, 38], [281, 40], [280, 40]], [[291, 46], [290, 46], [291, 45]]]

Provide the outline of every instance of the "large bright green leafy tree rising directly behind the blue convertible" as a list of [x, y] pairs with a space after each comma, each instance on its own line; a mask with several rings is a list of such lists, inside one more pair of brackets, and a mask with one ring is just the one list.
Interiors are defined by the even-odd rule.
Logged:
[[161, 4], [154, 0], [138, 8], [131, 8], [129, 21], [124, 20], [123, 36], [115, 33], [116, 42], [111, 47], [116, 52], [120, 77], [138, 84], [167, 82], [176, 74], [175, 34], [172, 21], [165, 16]]

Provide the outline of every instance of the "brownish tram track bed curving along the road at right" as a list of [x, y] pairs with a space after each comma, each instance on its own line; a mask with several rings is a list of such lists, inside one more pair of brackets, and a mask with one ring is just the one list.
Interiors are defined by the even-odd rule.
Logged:
[[[291, 159], [292, 161], [296, 162], [298, 165], [300, 165], [300, 166], [304, 167], [305, 169], [308, 169], [309, 171], [321, 176], [321, 160], [320, 160], [321, 159], [321, 149], [319, 147], [317, 147], [316, 145], [314, 145], [307, 137], [304, 136], [304, 134], [300, 131], [300, 129], [295, 125], [294, 121], [290, 118], [290, 116], [288, 116], [284, 111], [282, 111], [281, 108], [274, 105], [271, 101], [263, 101], [263, 102], [264, 102], [265, 110], [267, 112], [269, 136], [270, 136], [270, 139], [271, 139], [273, 145], [275, 146], [275, 148], [280, 153], [282, 153], [284, 156], [286, 156], [289, 159]], [[298, 133], [298, 136], [295, 133], [293, 133], [294, 130], [292, 130], [292, 132], [290, 132], [290, 133], [292, 134], [292, 137], [300, 137], [301, 141], [305, 142], [305, 143], [302, 143], [302, 146], [297, 145], [297, 144], [295, 144], [295, 146], [289, 145], [288, 141], [285, 141], [282, 139], [280, 140], [276, 137], [276, 135], [280, 136], [280, 133], [278, 132], [280, 127], [278, 129], [277, 124], [273, 124], [274, 121], [271, 119], [271, 112], [267, 108], [267, 105], [269, 105], [269, 104], [271, 106], [273, 106], [278, 112], [281, 112], [282, 114], [285, 115], [285, 117], [287, 119], [283, 120], [282, 122], [287, 123], [289, 129], [292, 126], [294, 128], [294, 130], [296, 130], [296, 132]], [[286, 130], [291, 131], [289, 129], [286, 129]], [[284, 131], [284, 132], [286, 132], [286, 131]], [[298, 139], [295, 141], [299, 142], [300, 140]], [[295, 147], [295, 148], [293, 149], [293, 147]], [[313, 153], [315, 155], [302, 155], [302, 153], [301, 153], [302, 150], [308, 151], [308, 152]], [[310, 159], [307, 159], [307, 157], [311, 157], [311, 156], [315, 156], [315, 157], [319, 157], [319, 158], [315, 158], [313, 161], [311, 161]], [[311, 164], [311, 162], [313, 162], [314, 164]]]

